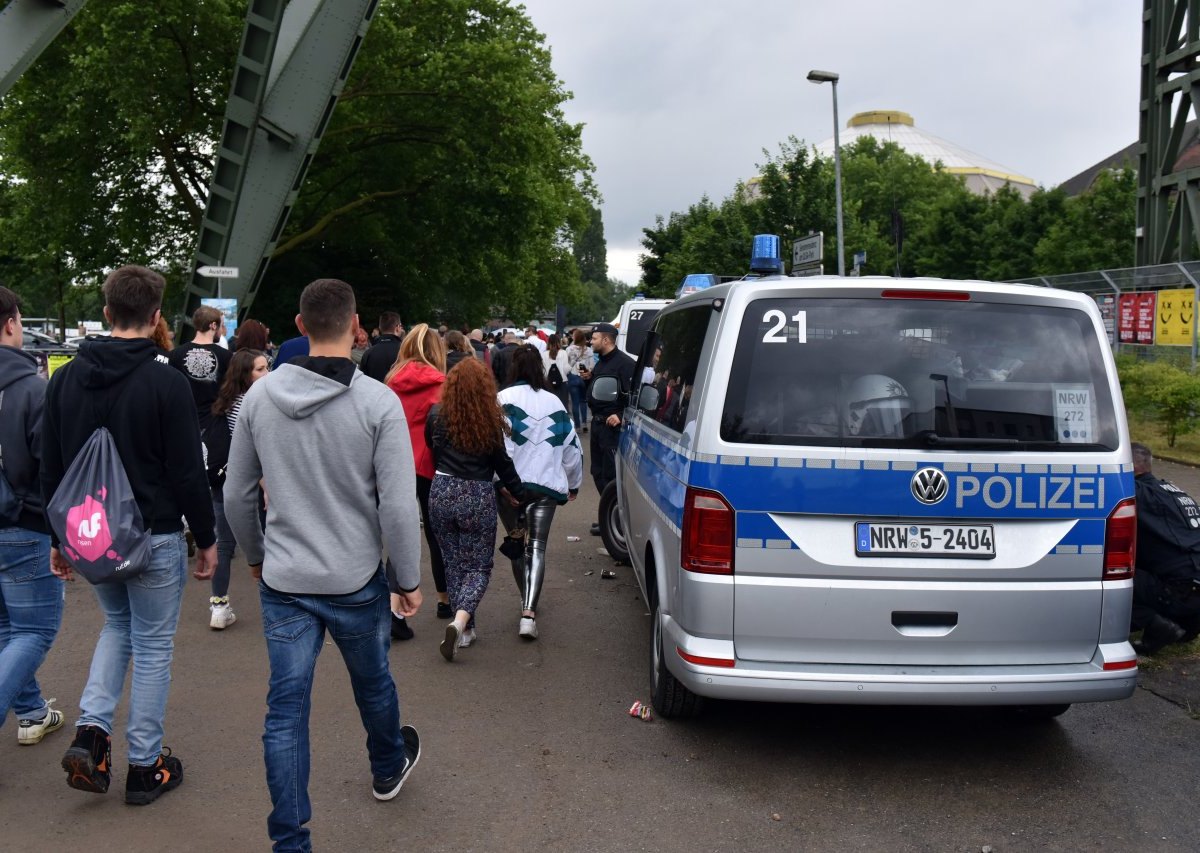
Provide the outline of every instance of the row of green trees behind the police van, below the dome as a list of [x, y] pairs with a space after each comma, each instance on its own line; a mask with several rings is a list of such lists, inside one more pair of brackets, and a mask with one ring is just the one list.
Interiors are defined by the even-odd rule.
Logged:
[[[739, 185], [720, 204], [703, 197], [643, 229], [649, 292], [671, 295], [689, 272], [743, 274], [760, 233], [788, 247], [823, 232], [824, 269], [836, 271], [833, 162], [790, 138], [758, 169], [752, 191]], [[940, 164], [862, 137], [842, 150], [846, 266], [856, 252], [866, 253], [863, 275], [1004, 281], [1129, 266], [1135, 192], [1124, 169], [1078, 198], [1037, 190], [1025, 199], [1010, 187], [976, 196]]]

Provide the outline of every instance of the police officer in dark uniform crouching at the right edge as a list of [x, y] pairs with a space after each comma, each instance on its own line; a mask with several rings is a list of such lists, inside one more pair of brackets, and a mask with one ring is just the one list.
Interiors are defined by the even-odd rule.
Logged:
[[1132, 630], [1140, 655], [1200, 632], [1200, 506], [1183, 489], [1151, 473], [1153, 456], [1133, 445], [1138, 497], [1138, 566]]

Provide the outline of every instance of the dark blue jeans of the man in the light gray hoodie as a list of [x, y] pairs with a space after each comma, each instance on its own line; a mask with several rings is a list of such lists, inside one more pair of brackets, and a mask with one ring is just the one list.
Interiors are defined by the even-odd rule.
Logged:
[[388, 669], [389, 597], [383, 567], [356, 593], [289, 595], [258, 584], [263, 633], [271, 662], [266, 691], [263, 757], [271, 813], [266, 831], [276, 851], [311, 851], [305, 824], [308, 800], [308, 711], [317, 655], [325, 631], [337, 644], [350, 674], [354, 702], [367, 732], [371, 773], [392, 776], [404, 765], [400, 699]]

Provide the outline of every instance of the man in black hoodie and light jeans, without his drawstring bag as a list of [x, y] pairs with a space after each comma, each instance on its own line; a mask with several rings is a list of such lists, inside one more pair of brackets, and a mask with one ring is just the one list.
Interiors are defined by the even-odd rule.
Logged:
[[[200, 431], [187, 379], [157, 355], [149, 340], [162, 312], [166, 282], [144, 266], [122, 266], [104, 281], [109, 338], [84, 341], [46, 391], [42, 498], [49, 503], [62, 475], [91, 433], [107, 426], [128, 476], [146, 530], [150, 565], [125, 582], [92, 589], [104, 612], [83, 697], [76, 738], [62, 757], [67, 785], [106, 793], [110, 779], [113, 716], [133, 659], [130, 690], [130, 770], [125, 801], [154, 801], [182, 781], [179, 758], [163, 750], [175, 626], [187, 573], [181, 516], [196, 536], [194, 576], [212, 577], [216, 535]], [[52, 533], [53, 539], [53, 533]], [[50, 551], [50, 566], [72, 579], [71, 564]]]

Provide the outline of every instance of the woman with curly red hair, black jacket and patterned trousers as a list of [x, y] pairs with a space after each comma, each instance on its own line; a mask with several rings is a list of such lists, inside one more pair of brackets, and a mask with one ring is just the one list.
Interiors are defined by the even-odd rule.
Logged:
[[499, 476], [504, 487], [502, 499], [523, 497], [521, 477], [504, 450], [506, 428], [491, 371], [479, 359], [461, 361], [425, 422], [434, 468], [430, 521], [442, 546], [455, 612], [440, 647], [448, 661], [475, 641], [475, 611], [492, 575], [497, 518], [492, 476]]

